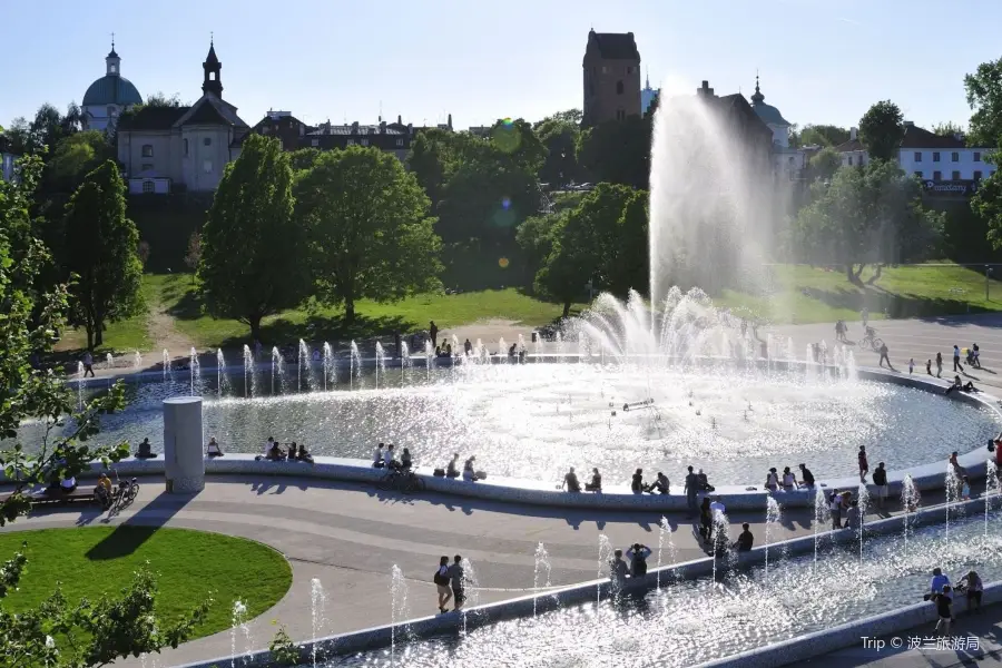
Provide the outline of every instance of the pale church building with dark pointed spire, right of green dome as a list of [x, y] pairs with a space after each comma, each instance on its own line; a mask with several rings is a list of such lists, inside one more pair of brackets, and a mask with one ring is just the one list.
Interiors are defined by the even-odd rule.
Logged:
[[213, 45], [202, 67], [203, 95], [190, 107], [144, 107], [121, 119], [118, 160], [130, 194], [166, 194], [177, 185], [215, 190], [239, 155], [248, 127], [223, 99], [223, 65]]

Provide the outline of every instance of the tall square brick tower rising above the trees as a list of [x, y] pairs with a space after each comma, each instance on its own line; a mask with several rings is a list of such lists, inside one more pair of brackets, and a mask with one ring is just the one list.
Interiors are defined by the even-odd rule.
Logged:
[[632, 32], [590, 31], [581, 69], [584, 127], [640, 116], [640, 52]]

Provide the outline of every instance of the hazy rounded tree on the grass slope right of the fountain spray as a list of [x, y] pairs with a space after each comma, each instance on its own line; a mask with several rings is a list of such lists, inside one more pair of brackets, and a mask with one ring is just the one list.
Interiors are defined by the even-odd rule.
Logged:
[[800, 254], [814, 264], [842, 265], [854, 284], [867, 265], [877, 267], [872, 283], [884, 264], [924, 259], [939, 242], [943, 215], [922, 206], [918, 181], [896, 163], [843, 167], [812, 190], [794, 228]]

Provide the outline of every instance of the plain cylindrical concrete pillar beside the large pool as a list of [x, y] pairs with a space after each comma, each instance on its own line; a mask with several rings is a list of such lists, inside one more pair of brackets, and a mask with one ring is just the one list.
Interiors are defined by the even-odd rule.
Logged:
[[205, 489], [200, 396], [164, 400], [164, 464], [167, 493]]

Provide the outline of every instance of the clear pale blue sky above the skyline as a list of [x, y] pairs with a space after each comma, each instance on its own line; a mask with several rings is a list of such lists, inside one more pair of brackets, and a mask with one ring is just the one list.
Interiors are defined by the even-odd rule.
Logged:
[[8, 0], [0, 12], [0, 125], [41, 102], [80, 102], [105, 72], [110, 32], [139, 92], [200, 92], [215, 32], [224, 97], [254, 124], [302, 120], [456, 127], [581, 106], [591, 27], [636, 35], [651, 84], [750, 95], [790, 122], [856, 125], [880, 99], [920, 125], [970, 111], [963, 76], [1002, 56], [999, 0], [340, 0], [72, 3]]

